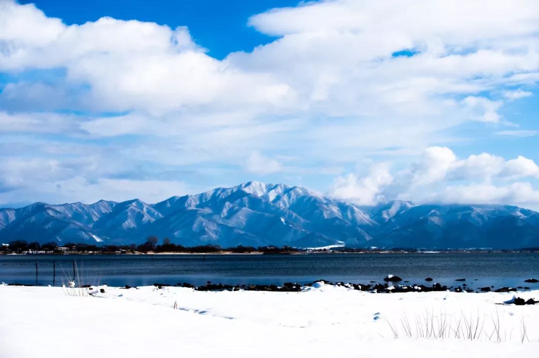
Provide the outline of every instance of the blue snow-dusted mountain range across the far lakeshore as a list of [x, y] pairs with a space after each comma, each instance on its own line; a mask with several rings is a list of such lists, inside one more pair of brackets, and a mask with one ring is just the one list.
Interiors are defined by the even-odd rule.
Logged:
[[256, 181], [152, 205], [135, 199], [0, 209], [1, 242], [129, 244], [149, 235], [185, 246], [521, 248], [539, 246], [539, 213], [407, 201], [358, 207], [306, 188]]

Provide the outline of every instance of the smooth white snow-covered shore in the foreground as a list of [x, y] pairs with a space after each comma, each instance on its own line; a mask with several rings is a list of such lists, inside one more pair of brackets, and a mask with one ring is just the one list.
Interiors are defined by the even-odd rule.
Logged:
[[[0, 356], [443, 358], [539, 352], [539, 304], [495, 305], [514, 293], [376, 294], [323, 284], [289, 293], [154, 286], [93, 291], [98, 293], [79, 297], [71, 295], [81, 289], [0, 286]], [[539, 291], [516, 296], [539, 299]], [[440, 334], [443, 339], [434, 338]]]

